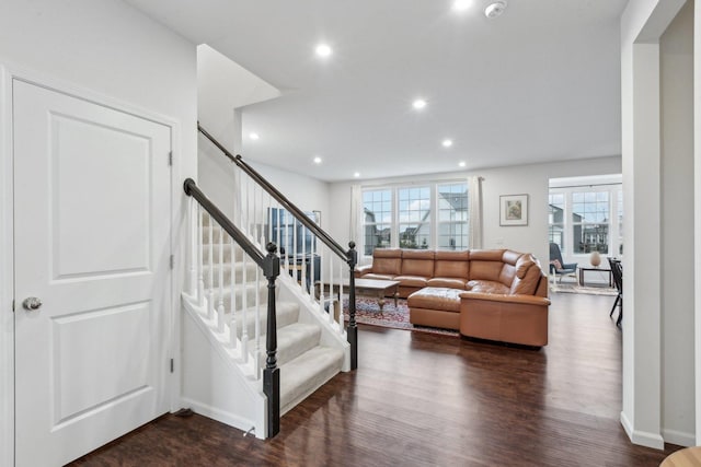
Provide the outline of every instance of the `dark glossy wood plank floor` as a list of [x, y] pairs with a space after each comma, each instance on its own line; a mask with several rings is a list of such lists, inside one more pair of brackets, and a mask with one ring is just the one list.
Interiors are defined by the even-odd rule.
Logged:
[[281, 420], [273, 440], [200, 416], [159, 420], [73, 465], [657, 466], [619, 422], [613, 297], [554, 294], [540, 351], [371, 326], [359, 367]]

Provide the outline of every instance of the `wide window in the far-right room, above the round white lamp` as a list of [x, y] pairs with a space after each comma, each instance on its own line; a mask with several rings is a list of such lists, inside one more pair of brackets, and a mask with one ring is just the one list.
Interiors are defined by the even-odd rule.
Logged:
[[609, 253], [609, 192], [572, 194], [574, 253]]

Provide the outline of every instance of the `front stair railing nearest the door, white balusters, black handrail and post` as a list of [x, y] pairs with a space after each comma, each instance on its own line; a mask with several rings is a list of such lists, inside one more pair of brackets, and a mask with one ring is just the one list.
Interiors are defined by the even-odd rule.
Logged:
[[[264, 255], [261, 248], [234, 226], [197, 188], [194, 180], [189, 178], [185, 180], [184, 188], [185, 192], [192, 197], [187, 215], [191, 222], [187, 230], [191, 241], [187, 268], [191, 281], [188, 290], [193, 295], [193, 302], [199, 305], [200, 318], [209, 326], [212, 334], [234, 350], [239, 361], [250, 369], [251, 377], [258, 381], [262, 376], [263, 392], [268, 404], [267, 435], [275, 436], [279, 432], [279, 369], [276, 358], [275, 306], [275, 281], [279, 276], [279, 257], [276, 255], [276, 246], [268, 244]], [[246, 215], [251, 213], [246, 212]], [[255, 217], [252, 219], [255, 220]], [[207, 235], [204, 235], [205, 231]], [[229, 252], [225, 254], [227, 247]], [[261, 271], [267, 280], [266, 285], [262, 284]], [[265, 301], [261, 296], [262, 293], [265, 294]], [[249, 310], [249, 304], [254, 305], [252, 310]], [[260, 365], [262, 308], [267, 323], [266, 365], [263, 372]], [[254, 329], [252, 342], [249, 336], [250, 326]], [[253, 354], [249, 354], [250, 350]]]

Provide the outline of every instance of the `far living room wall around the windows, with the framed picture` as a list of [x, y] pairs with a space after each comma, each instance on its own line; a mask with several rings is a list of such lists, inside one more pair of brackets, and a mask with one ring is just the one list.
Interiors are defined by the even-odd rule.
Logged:
[[[468, 175], [484, 177], [483, 224], [484, 248], [510, 248], [532, 253], [547, 264], [548, 250], [548, 186], [550, 178], [576, 175], [600, 175], [620, 173], [620, 156], [597, 157], [549, 164], [532, 164], [475, 171], [474, 173], [449, 173], [426, 176], [430, 180], [456, 179]], [[350, 240], [349, 211], [350, 187], [360, 185], [380, 186], [400, 182], [416, 182], [417, 177], [386, 178], [374, 180], [345, 182], [331, 185], [330, 202], [334, 208], [331, 218], [331, 234], [347, 243]], [[499, 196], [528, 195], [528, 225], [499, 225]], [[356, 238], [354, 238], [356, 240]], [[356, 240], [359, 242], [359, 240]]]

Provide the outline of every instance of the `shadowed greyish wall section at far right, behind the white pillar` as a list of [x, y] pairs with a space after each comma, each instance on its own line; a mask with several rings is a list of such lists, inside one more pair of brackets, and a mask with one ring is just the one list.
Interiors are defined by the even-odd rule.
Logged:
[[[693, 2], [659, 39], [662, 110], [662, 434], [694, 444]], [[681, 209], [680, 209], [681, 208]]]

